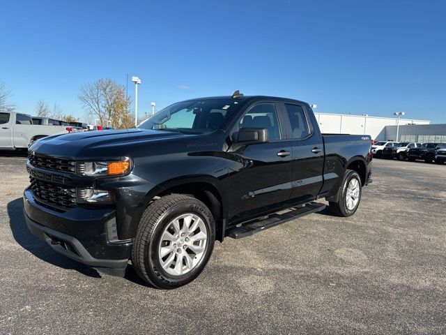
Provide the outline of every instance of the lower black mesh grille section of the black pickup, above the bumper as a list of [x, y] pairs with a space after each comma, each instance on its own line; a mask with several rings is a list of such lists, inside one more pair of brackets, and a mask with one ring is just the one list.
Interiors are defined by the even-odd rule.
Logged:
[[47, 204], [72, 207], [76, 204], [76, 188], [47, 183], [30, 177], [31, 190], [38, 200]]

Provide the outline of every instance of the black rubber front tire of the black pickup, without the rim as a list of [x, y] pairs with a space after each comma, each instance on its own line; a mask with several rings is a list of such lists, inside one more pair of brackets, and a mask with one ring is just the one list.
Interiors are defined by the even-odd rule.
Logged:
[[[161, 235], [171, 220], [181, 214], [199, 216], [206, 225], [208, 237], [199, 263], [186, 274], [172, 275], [165, 271], [158, 257]], [[187, 195], [172, 194], [150, 204], [139, 222], [132, 248], [132, 264], [137, 274], [155, 288], [173, 289], [193, 281], [206, 266], [215, 242], [213, 215], [203, 202]]]

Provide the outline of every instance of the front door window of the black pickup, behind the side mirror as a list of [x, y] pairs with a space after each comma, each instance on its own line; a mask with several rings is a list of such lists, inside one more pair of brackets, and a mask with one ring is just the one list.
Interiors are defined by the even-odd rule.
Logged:
[[280, 140], [279, 121], [274, 103], [259, 103], [240, 119], [240, 128], [266, 128], [269, 140]]

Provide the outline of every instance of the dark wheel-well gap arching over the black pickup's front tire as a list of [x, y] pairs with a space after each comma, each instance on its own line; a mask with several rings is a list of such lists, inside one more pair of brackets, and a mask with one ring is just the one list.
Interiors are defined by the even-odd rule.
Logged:
[[206, 204], [215, 221], [215, 232], [217, 239], [222, 236], [222, 198], [220, 197], [220, 193], [217, 191], [215, 186], [202, 182], [183, 184], [168, 188], [167, 190], [158, 194], [157, 197], [163, 197], [164, 195], [173, 193], [189, 195]]

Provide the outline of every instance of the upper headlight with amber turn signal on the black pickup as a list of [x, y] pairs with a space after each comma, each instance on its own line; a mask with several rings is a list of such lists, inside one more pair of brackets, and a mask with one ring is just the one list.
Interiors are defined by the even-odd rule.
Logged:
[[78, 162], [76, 165], [77, 174], [83, 176], [122, 176], [132, 170], [132, 162], [129, 158], [122, 161], [108, 162]]

